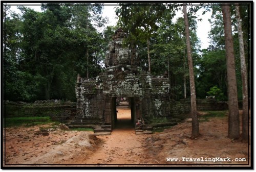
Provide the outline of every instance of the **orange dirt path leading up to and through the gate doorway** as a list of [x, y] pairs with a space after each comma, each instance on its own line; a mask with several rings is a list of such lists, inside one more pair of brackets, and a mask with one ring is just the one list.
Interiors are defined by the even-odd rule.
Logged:
[[109, 136], [97, 136], [103, 140], [100, 148], [87, 159], [74, 159], [77, 164], [147, 164], [143, 152], [148, 134], [136, 135], [129, 107], [117, 107], [117, 126]]

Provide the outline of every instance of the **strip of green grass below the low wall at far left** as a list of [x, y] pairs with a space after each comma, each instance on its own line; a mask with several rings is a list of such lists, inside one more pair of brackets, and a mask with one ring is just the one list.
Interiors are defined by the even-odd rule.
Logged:
[[50, 116], [34, 116], [34, 117], [11, 117], [3, 120], [4, 127], [18, 127], [18, 126], [36, 126], [40, 124], [48, 124], [51, 121]]

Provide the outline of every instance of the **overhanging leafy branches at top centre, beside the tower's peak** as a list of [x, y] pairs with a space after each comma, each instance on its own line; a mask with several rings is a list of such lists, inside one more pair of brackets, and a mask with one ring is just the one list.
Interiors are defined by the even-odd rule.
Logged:
[[[129, 32], [129, 41], [136, 39], [146, 42], [147, 38], [158, 28], [165, 6], [143, 5], [140, 3], [120, 3], [121, 7], [116, 9], [119, 26]], [[128, 38], [128, 39], [129, 39]]]

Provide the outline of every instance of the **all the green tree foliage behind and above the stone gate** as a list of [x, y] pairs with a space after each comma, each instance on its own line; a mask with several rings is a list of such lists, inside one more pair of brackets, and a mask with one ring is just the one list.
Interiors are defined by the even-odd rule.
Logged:
[[[117, 30], [117, 26], [112, 26], [106, 27], [102, 33], [97, 32], [97, 28], [104, 26], [107, 21], [101, 16], [102, 4], [43, 3], [42, 12], [19, 6], [22, 11], [20, 15], [10, 12], [9, 6], [6, 7], [8, 15], [4, 14], [3, 23], [6, 47], [3, 52], [4, 99], [24, 102], [45, 99], [75, 101], [77, 73], [86, 77], [89, 69], [89, 78], [93, 78], [103, 70], [108, 42]], [[181, 17], [173, 21], [176, 12], [182, 9], [180, 7], [171, 3], [120, 3], [116, 9], [118, 27], [123, 27], [129, 35], [126, 43], [135, 41], [137, 44], [142, 69], [148, 69], [147, 39], [150, 40], [152, 75], [163, 75], [168, 70], [169, 62], [170, 97], [176, 100], [183, 98], [184, 81], [189, 92], [184, 19]], [[212, 11], [209, 32], [211, 45], [199, 55], [195, 13], [202, 7], [206, 6], [188, 6], [190, 42], [197, 76], [196, 93], [197, 97], [204, 98], [207, 90], [217, 85], [224, 94], [218, 99], [225, 100], [227, 78], [221, 6], [207, 6], [206, 10]], [[240, 7], [248, 77], [251, 54], [250, 10], [250, 6]], [[238, 96], [242, 99], [234, 12], [232, 21]]]

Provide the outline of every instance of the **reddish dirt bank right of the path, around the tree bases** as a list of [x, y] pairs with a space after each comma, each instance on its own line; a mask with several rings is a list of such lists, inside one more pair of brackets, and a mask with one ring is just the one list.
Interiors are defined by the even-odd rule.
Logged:
[[[249, 166], [250, 144], [229, 139], [227, 130], [227, 116], [210, 118], [209, 121], [200, 122], [200, 136], [190, 139], [191, 122], [186, 120], [147, 138], [146, 149], [150, 159], [154, 158], [156, 164]], [[168, 161], [166, 158], [177, 158], [177, 161]]]

